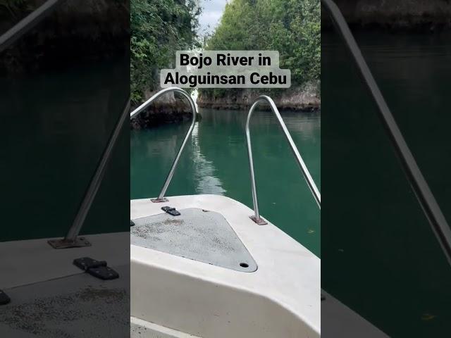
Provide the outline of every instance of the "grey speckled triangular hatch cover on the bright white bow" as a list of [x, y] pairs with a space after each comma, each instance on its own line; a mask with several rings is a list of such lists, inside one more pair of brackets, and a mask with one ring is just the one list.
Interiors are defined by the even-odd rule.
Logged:
[[130, 244], [190, 258], [194, 261], [251, 273], [257, 263], [226, 218], [199, 208], [136, 218], [130, 227]]

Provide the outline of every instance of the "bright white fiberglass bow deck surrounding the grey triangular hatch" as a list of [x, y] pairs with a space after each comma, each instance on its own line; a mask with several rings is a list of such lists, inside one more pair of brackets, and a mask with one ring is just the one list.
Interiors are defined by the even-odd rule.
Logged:
[[160, 337], [154, 332], [163, 337], [319, 337], [318, 257], [271, 223], [254, 223], [252, 210], [233, 199], [194, 195], [168, 200], [130, 201], [130, 219], [162, 214], [162, 206], [218, 213], [258, 268], [233, 270], [131, 244], [132, 337]]

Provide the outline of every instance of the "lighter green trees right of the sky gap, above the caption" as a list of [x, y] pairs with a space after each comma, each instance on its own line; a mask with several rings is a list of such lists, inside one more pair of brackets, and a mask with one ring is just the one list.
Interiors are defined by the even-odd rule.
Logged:
[[319, 80], [319, 0], [232, 0], [207, 40], [210, 50], [276, 50], [293, 84]]

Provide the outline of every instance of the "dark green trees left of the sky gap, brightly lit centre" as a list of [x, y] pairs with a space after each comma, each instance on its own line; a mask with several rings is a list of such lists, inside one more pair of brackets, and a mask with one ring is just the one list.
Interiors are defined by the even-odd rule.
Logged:
[[130, 82], [134, 103], [158, 87], [158, 71], [173, 67], [175, 51], [197, 46], [196, 0], [130, 1]]

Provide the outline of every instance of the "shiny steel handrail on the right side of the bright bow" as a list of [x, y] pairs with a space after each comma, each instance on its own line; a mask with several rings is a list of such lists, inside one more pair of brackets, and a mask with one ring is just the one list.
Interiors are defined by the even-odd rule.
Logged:
[[299, 165], [299, 169], [302, 172], [302, 175], [304, 175], [304, 179], [307, 182], [307, 185], [309, 186], [309, 189], [311, 191], [311, 194], [313, 194], [316, 204], [318, 204], [318, 207], [321, 210], [321, 193], [319, 192], [318, 188], [316, 187], [316, 184], [311, 177], [309, 170], [307, 169], [307, 165], [305, 165], [304, 160], [302, 160], [301, 154], [299, 154], [299, 151], [297, 150], [297, 147], [295, 145], [295, 142], [293, 142], [290, 132], [288, 132], [287, 127], [285, 126], [285, 123], [283, 123], [282, 116], [280, 116], [280, 113], [278, 111], [278, 108], [276, 107], [276, 104], [274, 104], [274, 101], [271, 99], [271, 97], [262, 95], [259, 96], [255, 101], [254, 104], [252, 104], [252, 107], [249, 109], [249, 114], [247, 115], [247, 121], [246, 121], [246, 139], [247, 139], [247, 154], [249, 156], [249, 169], [251, 174], [251, 187], [252, 187], [252, 201], [254, 203], [254, 215], [251, 216], [252, 220], [254, 220], [255, 223], [259, 225], [266, 224], [266, 222], [260, 217], [259, 213], [259, 202], [257, 201], [257, 187], [255, 186], [255, 175], [254, 175], [254, 161], [252, 159], [252, 145], [251, 145], [251, 136], [249, 132], [249, 123], [252, 117], [252, 113], [254, 112], [255, 108], [261, 103], [267, 101], [269, 106], [271, 106], [271, 111], [273, 111], [274, 115], [276, 115], [276, 118], [278, 120], [278, 123], [280, 127], [282, 128], [283, 134], [285, 135], [285, 138], [288, 141], [288, 144], [290, 145], [290, 149], [292, 150], [293, 155], [295, 155], [295, 159], [297, 161], [297, 164]]

